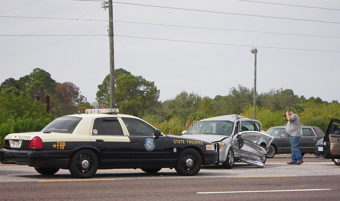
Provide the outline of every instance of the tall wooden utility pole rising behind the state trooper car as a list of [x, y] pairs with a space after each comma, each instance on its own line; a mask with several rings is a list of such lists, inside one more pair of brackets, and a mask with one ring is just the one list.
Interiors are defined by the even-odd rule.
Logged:
[[[107, 5], [106, 5], [107, 4]], [[102, 3], [104, 10], [108, 7], [108, 36], [110, 48], [110, 108], [115, 108], [115, 52], [113, 46], [113, 5], [112, 0]]]

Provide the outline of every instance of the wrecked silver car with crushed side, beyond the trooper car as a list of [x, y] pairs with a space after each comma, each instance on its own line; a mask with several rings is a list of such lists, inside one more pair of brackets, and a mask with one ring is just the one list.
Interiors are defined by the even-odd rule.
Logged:
[[274, 137], [261, 132], [259, 121], [240, 115], [212, 117], [196, 122], [182, 134], [215, 145], [219, 153], [216, 164], [231, 169], [234, 162], [244, 162], [263, 168], [266, 153]]

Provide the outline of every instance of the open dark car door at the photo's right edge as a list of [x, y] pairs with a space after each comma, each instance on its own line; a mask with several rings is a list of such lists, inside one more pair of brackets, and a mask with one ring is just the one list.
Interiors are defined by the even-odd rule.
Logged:
[[323, 138], [323, 150], [325, 158], [340, 158], [340, 120], [330, 120]]

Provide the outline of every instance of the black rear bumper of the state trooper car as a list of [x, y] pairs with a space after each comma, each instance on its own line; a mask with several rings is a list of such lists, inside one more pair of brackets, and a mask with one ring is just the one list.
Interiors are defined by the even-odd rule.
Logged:
[[72, 151], [0, 150], [0, 163], [67, 169]]

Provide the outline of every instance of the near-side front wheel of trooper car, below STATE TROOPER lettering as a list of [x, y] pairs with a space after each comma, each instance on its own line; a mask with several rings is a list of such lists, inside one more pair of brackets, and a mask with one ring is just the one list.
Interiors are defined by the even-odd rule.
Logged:
[[193, 176], [202, 167], [201, 155], [195, 149], [184, 149], [177, 159], [175, 170], [183, 176]]

